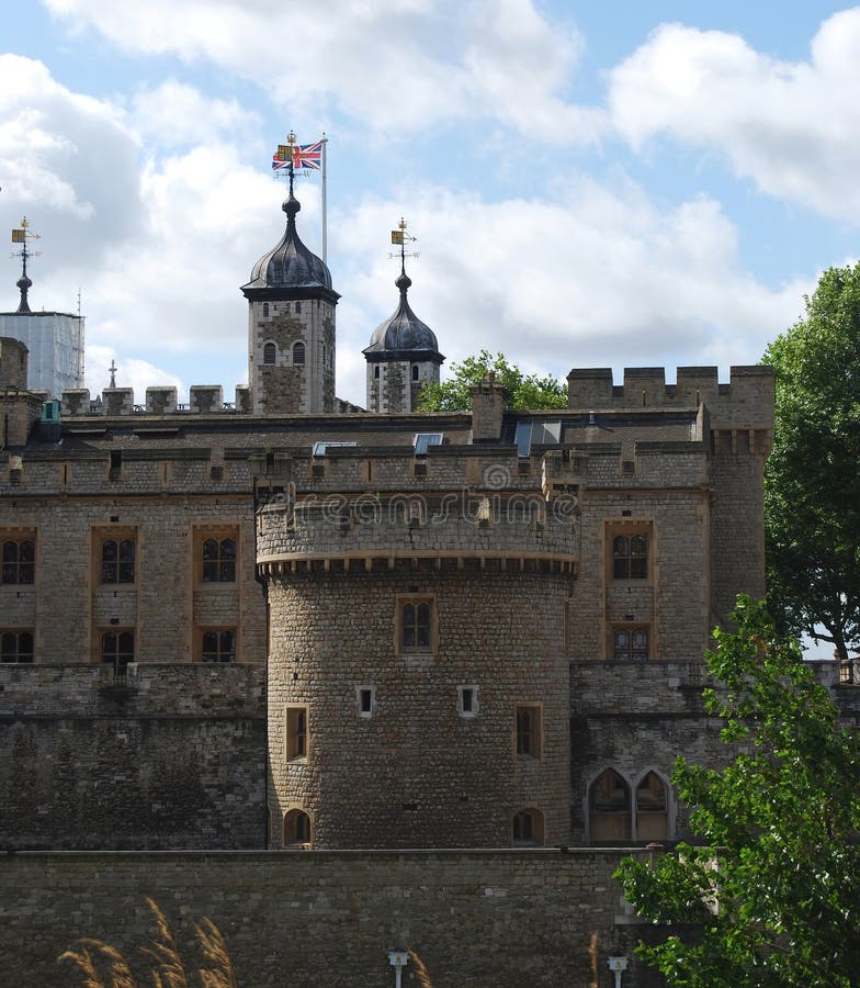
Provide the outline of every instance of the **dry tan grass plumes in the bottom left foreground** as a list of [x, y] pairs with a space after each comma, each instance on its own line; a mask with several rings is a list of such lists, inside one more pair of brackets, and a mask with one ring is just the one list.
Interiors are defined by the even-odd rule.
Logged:
[[[151, 899], [146, 903], [155, 916], [159, 935], [158, 940], [138, 950], [149, 962], [152, 988], [190, 988], [184, 962], [165, 913]], [[201, 988], [237, 988], [233, 962], [218, 928], [204, 918], [194, 930], [208, 965], [196, 970]], [[83, 978], [82, 988], [139, 988], [128, 962], [116, 947], [89, 938], [78, 943], [77, 950], [66, 951], [57, 959], [70, 961], [77, 966]]]

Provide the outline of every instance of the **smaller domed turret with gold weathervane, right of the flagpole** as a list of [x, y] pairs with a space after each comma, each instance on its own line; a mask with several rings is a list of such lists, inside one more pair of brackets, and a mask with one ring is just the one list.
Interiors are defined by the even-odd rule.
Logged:
[[376, 327], [364, 350], [369, 412], [412, 412], [423, 385], [439, 383], [445, 358], [433, 330], [409, 306], [406, 293], [411, 283], [401, 267], [395, 281], [400, 291], [397, 311]]

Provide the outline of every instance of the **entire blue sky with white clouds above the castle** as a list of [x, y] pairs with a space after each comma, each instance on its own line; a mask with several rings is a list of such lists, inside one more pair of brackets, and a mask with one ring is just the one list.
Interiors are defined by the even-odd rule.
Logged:
[[[806, 0], [30, 0], [0, 56], [0, 211], [93, 392], [247, 379], [271, 156], [328, 144], [338, 394], [396, 305], [449, 361], [756, 362], [860, 227], [860, 8]], [[13, 12], [12, 12], [13, 11]], [[320, 187], [297, 184], [320, 249]], [[9, 236], [5, 234], [5, 236]], [[11, 244], [10, 251], [11, 251]], [[0, 310], [20, 261], [1, 261]]]

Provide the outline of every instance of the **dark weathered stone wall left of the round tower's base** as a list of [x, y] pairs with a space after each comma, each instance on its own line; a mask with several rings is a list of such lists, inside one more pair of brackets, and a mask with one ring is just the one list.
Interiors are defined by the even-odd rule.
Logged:
[[0, 846], [264, 845], [259, 666], [0, 665]]

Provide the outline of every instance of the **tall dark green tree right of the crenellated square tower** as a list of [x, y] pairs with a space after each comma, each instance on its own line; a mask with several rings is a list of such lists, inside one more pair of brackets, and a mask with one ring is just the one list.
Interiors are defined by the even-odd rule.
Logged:
[[825, 271], [805, 301], [765, 353], [777, 371], [768, 604], [847, 660], [860, 644], [860, 265]]

